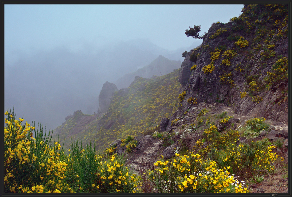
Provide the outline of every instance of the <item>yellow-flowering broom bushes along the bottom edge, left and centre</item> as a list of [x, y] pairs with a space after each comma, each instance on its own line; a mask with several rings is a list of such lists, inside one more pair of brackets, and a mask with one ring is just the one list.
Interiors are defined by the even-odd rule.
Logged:
[[[82, 142], [71, 142], [69, 154], [64, 153], [62, 146], [58, 142], [51, 141], [52, 136], [40, 128], [32, 127], [27, 122], [22, 124], [23, 119], [17, 120], [14, 111], [5, 112], [4, 128], [4, 192], [5, 193], [130, 193], [143, 192], [140, 175], [132, 173], [124, 165], [125, 156], [119, 155], [96, 155], [95, 144], [87, 143], [82, 148]], [[35, 138], [32, 137], [32, 132]], [[43, 135], [44, 134], [44, 135]], [[53, 144], [52, 144], [53, 143]], [[179, 156], [179, 155], [177, 155]], [[247, 192], [236, 179], [229, 175], [229, 172], [220, 171], [218, 181], [224, 181], [224, 187], [219, 187], [220, 183], [206, 182], [206, 178], [201, 177], [200, 171], [212, 163], [206, 163], [199, 159], [199, 155], [191, 157], [191, 167], [185, 168], [190, 178], [181, 176], [181, 167], [188, 166], [187, 156], [178, 158], [177, 165], [170, 166], [177, 175], [171, 181], [183, 181], [173, 185], [172, 189], [161, 190], [161, 185], [156, 191], [162, 192], [183, 192], [181, 185], [192, 184], [195, 182], [193, 190], [187, 192]], [[175, 160], [174, 160], [175, 161]], [[169, 162], [158, 161], [155, 166], [166, 166]], [[176, 163], [176, 161], [175, 161]], [[180, 165], [180, 163], [182, 165]], [[215, 166], [216, 167], [216, 166]], [[167, 167], [168, 169], [168, 167]], [[164, 171], [167, 171], [164, 168]], [[157, 171], [158, 172], [158, 171]], [[193, 172], [199, 173], [195, 177]], [[149, 178], [161, 181], [161, 175], [167, 178], [167, 174], [153, 174], [149, 171]], [[207, 175], [204, 175], [206, 177]], [[213, 173], [214, 178], [217, 176]], [[167, 178], [168, 179], [168, 178]], [[184, 181], [186, 179], [186, 181]], [[202, 180], [202, 182], [200, 181]], [[215, 181], [215, 180], [214, 180]], [[186, 183], [185, 183], [186, 182]], [[211, 186], [211, 187], [206, 187]], [[213, 187], [216, 188], [213, 188]], [[197, 190], [196, 190], [197, 187]], [[176, 188], [182, 188], [177, 190]], [[191, 188], [190, 188], [191, 189]], [[186, 192], [186, 191], [185, 191]]]

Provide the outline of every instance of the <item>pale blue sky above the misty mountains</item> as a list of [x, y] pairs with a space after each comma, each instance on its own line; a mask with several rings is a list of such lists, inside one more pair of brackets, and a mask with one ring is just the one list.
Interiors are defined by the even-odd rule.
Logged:
[[175, 50], [194, 40], [185, 36], [189, 26], [207, 32], [213, 22], [229, 22], [243, 5], [4, 5], [5, 51], [53, 49], [145, 38]]

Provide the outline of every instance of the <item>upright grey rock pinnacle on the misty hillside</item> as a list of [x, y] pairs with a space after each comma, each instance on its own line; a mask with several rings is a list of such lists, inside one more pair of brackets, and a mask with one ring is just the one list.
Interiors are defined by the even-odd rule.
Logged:
[[108, 81], [104, 83], [98, 97], [98, 113], [105, 113], [108, 111], [112, 96], [116, 91], [118, 91], [118, 88], [114, 83], [109, 83]]

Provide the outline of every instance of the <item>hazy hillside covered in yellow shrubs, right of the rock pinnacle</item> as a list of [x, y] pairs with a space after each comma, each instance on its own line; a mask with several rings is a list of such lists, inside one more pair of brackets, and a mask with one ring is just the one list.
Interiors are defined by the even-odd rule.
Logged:
[[116, 139], [159, 130], [161, 118], [169, 118], [177, 110], [181, 88], [178, 73], [179, 69], [152, 79], [136, 78], [128, 89], [117, 92], [103, 117], [103, 126], [97, 131], [99, 147], [109, 147]]

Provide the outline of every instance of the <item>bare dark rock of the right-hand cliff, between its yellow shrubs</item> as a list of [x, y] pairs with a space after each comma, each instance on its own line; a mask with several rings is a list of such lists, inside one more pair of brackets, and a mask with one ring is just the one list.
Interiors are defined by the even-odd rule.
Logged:
[[[263, 57], [264, 50], [254, 49], [255, 32], [249, 34], [245, 31], [233, 32], [232, 27], [232, 22], [211, 26], [207, 33], [208, 36], [203, 39], [202, 46], [186, 54], [179, 75], [179, 82], [183, 86], [182, 91], [186, 91], [182, 110], [188, 107], [188, 98], [196, 97], [197, 102], [229, 104], [235, 108], [236, 113], [242, 115], [264, 117], [287, 123], [287, 80], [276, 86], [266, 87], [266, 89], [264, 87], [260, 91], [248, 89], [251, 81], [264, 84], [267, 72], [272, 72], [272, 67], [279, 57], [288, 56], [287, 38], [275, 40], [273, 48], [275, 55], [267, 59]], [[218, 37], [210, 38], [220, 29], [227, 31]], [[235, 45], [237, 38], [230, 39], [232, 36], [243, 36], [250, 44], [240, 48]], [[220, 52], [215, 58], [213, 54], [216, 50], [220, 50]], [[235, 52], [236, 55], [228, 59], [229, 65], [225, 65], [222, 62], [227, 58], [223, 53], [228, 50]], [[196, 58], [194, 58], [195, 54], [197, 54]], [[208, 65], [212, 64], [214, 70], [205, 72]], [[196, 68], [190, 70], [193, 65], [196, 65]], [[227, 74], [229, 79], [226, 77]], [[242, 98], [240, 93], [244, 92], [247, 93], [247, 96]], [[173, 119], [171, 118], [171, 120]]]

